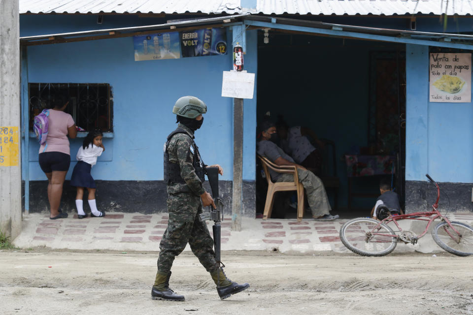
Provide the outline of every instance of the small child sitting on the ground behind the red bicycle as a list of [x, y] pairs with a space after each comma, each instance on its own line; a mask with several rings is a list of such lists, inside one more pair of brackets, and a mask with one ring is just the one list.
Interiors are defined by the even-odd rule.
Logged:
[[379, 192], [381, 195], [376, 199], [376, 203], [371, 210], [373, 219], [384, 220], [390, 214], [404, 214], [399, 205], [399, 196], [391, 189], [391, 181], [388, 178], [383, 178], [379, 182]]

